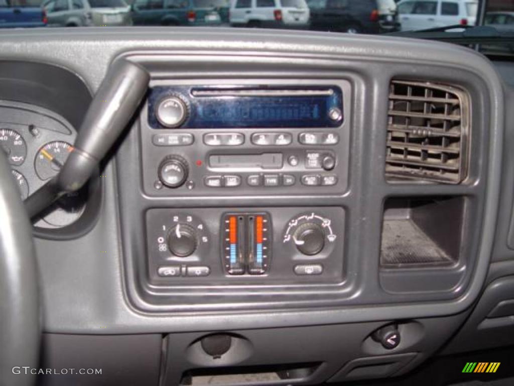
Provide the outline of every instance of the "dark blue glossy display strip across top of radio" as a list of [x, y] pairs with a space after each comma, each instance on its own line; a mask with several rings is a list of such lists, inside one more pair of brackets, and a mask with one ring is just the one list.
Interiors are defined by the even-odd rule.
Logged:
[[182, 128], [334, 128], [343, 120], [338, 86], [296, 89], [223, 89], [154, 87], [149, 98], [149, 124], [162, 128], [152, 107], [163, 97], [180, 95], [189, 116]]

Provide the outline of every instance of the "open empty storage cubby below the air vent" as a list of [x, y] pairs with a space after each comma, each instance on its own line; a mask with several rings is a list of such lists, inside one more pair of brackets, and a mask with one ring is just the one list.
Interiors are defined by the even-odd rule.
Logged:
[[384, 204], [380, 266], [453, 266], [463, 233], [464, 197], [390, 198]]

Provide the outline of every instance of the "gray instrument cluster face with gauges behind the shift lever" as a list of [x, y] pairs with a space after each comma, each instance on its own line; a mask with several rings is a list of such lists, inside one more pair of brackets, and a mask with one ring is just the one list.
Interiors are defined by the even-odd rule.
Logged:
[[[62, 116], [31, 104], [0, 101], [0, 151], [25, 200], [56, 176], [73, 150], [77, 132]], [[86, 191], [67, 195], [34, 220], [40, 228], [61, 228], [83, 213]]]

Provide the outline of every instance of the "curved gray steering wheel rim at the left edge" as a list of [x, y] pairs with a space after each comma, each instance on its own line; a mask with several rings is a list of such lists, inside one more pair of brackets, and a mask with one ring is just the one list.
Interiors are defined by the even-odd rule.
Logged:
[[35, 383], [40, 338], [32, 226], [0, 150], [0, 386]]

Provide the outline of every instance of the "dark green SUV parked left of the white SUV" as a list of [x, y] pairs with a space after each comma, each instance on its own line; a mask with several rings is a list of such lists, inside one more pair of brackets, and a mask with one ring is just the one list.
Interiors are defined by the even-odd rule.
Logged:
[[136, 25], [215, 26], [228, 24], [228, 0], [136, 0]]

